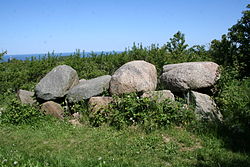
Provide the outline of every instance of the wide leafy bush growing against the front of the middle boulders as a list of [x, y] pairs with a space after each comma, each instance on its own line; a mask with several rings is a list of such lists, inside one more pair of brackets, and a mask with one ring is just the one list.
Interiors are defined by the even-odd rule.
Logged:
[[139, 98], [136, 94], [114, 97], [108, 109], [92, 113], [90, 122], [94, 126], [108, 123], [114, 127], [142, 125], [148, 130], [169, 125], [184, 125], [194, 120], [192, 109], [182, 103], [165, 100], [157, 103], [153, 99]]

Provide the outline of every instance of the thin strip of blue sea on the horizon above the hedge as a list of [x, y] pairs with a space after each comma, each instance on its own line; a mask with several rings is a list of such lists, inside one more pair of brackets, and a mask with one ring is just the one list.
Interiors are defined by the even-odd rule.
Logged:
[[[114, 52], [114, 51], [113, 51]], [[120, 53], [121, 51], [116, 51], [116, 53]], [[101, 54], [101, 53], [112, 53], [111, 51], [110, 52], [84, 52], [84, 56], [86, 57], [89, 57], [92, 53], [94, 54]], [[73, 55], [75, 54], [74, 52], [66, 52], [66, 53], [54, 53], [54, 54], [51, 54], [50, 55], [52, 56], [70, 56], [70, 55]], [[83, 53], [81, 52], [80, 53], [81, 55], [83, 55]], [[3, 57], [3, 61], [6, 62], [8, 60], [11, 60], [11, 59], [17, 59], [17, 60], [27, 60], [27, 59], [30, 59], [32, 57], [35, 57], [37, 59], [39, 58], [42, 58], [44, 56], [48, 56], [48, 54], [17, 54], [17, 55], [4, 55]]]

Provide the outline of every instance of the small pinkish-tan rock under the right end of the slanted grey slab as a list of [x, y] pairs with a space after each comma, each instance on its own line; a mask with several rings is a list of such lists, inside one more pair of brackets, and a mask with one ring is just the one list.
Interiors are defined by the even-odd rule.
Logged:
[[100, 109], [105, 109], [108, 107], [109, 103], [113, 101], [112, 97], [91, 97], [89, 99], [90, 111], [96, 112]]

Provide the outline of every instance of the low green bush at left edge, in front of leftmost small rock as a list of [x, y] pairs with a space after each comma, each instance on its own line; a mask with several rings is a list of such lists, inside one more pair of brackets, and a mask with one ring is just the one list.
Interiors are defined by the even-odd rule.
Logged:
[[35, 107], [21, 104], [18, 100], [12, 99], [8, 107], [0, 115], [2, 123], [14, 125], [31, 124], [42, 117], [42, 114]]

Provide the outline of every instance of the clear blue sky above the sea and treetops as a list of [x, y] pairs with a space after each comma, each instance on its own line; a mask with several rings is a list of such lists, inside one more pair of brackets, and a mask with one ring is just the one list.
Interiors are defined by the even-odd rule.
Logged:
[[123, 51], [169, 41], [206, 45], [237, 23], [248, 0], [0, 0], [0, 52]]

